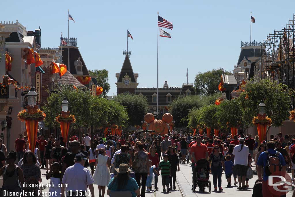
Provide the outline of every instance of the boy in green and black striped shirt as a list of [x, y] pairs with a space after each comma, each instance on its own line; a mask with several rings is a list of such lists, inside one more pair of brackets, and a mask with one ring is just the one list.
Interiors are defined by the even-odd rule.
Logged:
[[167, 191], [170, 191], [169, 180], [171, 175], [171, 164], [168, 161], [168, 157], [168, 154], [164, 154], [163, 161], [160, 162], [158, 167], [158, 175], [160, 175], [159, 171], [161, 170], [163, 192], [166, 191], [165, 186], [167, 186]]

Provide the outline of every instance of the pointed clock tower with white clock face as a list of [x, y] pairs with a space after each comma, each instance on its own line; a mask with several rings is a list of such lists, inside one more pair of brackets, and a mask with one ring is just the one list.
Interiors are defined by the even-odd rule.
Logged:
[[134, 73], [129, 55], [131, 55], [131, 52], [128, 53], [123, 53], [125, 55], [125, 60], [121, 69], [120, 73], [116, 73], [116, 78], [117, 78], [117, 94], [121, 94], [124, 92], [129, 92], [129, 93], [135, 93], [135, 89], [138, 86], [137, 83], [137, 78], [138, 78], [138, 73]]

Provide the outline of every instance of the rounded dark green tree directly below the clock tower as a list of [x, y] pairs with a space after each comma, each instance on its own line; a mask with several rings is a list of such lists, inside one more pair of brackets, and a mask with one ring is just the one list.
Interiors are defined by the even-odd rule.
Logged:
[[125, 93], [117, 95], [114, 100], [126, 108], [132, 125], [141, 124], [143, 116], [148, 113], [148, 100], [146, 97]]

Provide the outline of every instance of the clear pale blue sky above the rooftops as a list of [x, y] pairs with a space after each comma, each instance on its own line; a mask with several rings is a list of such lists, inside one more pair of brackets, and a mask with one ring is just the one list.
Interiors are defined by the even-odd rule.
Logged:
[[157, 85], [157, 12], [173, 23], [170, 38], [159, 39], [159, 87], [165, 79], [169, 86], [181, 87], [194, 82], [198, 72], [224, 68], [232, 70], [237, 64], [241, 41], [250, 41], [250, 12], [252, 40], [262, 41], [274, 29], [279, 30], [293, 18], [294, 0], [280, 1], [24, 1], [4, 2], [0, 20], [12, 20], [34, 30], [41, 26], [42, 47], [58, 47], [60, 32], [68, 34], [68, 9], [75, 22], [70, 21], [70, 37], [76, 37], [88, 69], [109, 71], [111, 90], [115, 94], [116, 72], [120, 72], [126, 50], [126, 31], [133, 71], [139, 73], [138, 87]]

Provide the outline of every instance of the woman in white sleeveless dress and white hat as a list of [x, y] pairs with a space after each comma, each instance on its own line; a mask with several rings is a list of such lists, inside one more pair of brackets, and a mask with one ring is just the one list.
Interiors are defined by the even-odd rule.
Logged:
[[[110, 159], [106, 154], [105, 149], [96, 149], [95, 152], [99, 152], [97, 157], [97, 166], [93, 174], [94, 184], [98, 185], [99, 197], [104, 197], [106, 191], [106, 186], [109, 185], [111, 180], [110, 176]], [[101, 196], [102, 189], [102, 196]]]

